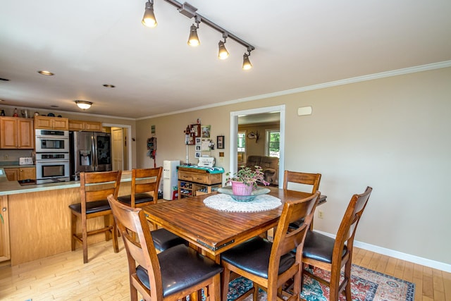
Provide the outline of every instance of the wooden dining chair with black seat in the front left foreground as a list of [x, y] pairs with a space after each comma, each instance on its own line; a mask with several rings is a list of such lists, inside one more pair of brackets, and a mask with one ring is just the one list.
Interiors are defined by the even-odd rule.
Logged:
[[186, 245], [156, 254], [144, 211], [118, 202], [113, 195], [108, 200], [127, 251], [131, 300], [137, 300], [139, 292], [147, 301], [175, 301], [202, 288], [206, 300], [220, 300], [220, 265]]

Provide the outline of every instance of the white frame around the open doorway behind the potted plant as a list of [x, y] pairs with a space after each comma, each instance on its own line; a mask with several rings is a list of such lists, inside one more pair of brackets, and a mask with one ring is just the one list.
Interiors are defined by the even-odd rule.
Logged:
[[279, 188], [283, 188], [283, 171], [285, 171], [285, 104], [280, 106], [266, 106], [264, 108], [248, 109], [230, 112], [230, 172], [236, 173], [238, 166], [237, 159], [237, 133], [238, 116], [252, 115], [260, 113], [280, 114], [280, 159], [279, 159]]

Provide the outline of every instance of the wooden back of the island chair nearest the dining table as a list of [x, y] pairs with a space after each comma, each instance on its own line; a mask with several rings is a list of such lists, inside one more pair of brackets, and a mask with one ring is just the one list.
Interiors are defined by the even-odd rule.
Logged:
[[[161, 166], [157, 168], [132, 169], [131, 207], [136, 207], [135, 195], [138, 193], [149, 193], [152, 195], [153, 201], [145, 204], [156, 204], [162, 173], [163, 168]], [[140, 204], [140, 206], [144, 206], [144, 204]]]

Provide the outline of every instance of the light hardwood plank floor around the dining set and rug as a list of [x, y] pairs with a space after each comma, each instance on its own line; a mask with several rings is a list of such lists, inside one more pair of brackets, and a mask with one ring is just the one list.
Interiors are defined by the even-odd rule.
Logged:
[[[123, 243], [115, 254], [111, 241], [18, 266], [0, 267], [0, 300], [130, 300]], [[415, 283], [415, 300], [451, 301], [451, 274], [362, 249], [354, 264]]]

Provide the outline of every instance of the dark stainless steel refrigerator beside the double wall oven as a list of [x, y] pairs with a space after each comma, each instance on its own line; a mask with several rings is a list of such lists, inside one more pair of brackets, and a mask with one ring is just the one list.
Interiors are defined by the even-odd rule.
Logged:
[[79, 180], [82, 171], [111, 171], [111, 135], [70, 132], [70, 178]]

